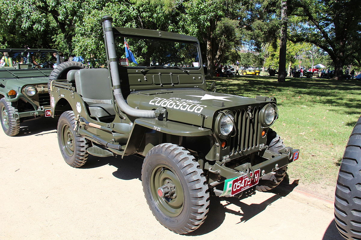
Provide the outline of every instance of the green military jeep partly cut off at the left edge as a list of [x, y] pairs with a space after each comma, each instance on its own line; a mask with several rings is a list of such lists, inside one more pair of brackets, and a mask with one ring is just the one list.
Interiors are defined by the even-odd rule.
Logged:
[[1, 127], [15, 136], [20, 122], [51, 116], [48, 81], [53, 65], [59, 64], [59, 53], [52, 49], [0, 49], [0, 53], [8, 53], [10, 59], [10, 64], [0, 66]]

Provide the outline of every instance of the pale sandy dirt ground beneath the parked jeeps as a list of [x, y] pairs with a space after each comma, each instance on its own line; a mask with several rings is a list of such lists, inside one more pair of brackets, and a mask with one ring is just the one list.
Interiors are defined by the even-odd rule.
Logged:
[[57, 119], [0, 132], [0, 239], [343, 240], [333, 205], [297, 191], [212, 197], [204, 224], [187, 235], [164, 228], [144, 199], [142, 159], [90, 157], [82, 168], [61, 157]]

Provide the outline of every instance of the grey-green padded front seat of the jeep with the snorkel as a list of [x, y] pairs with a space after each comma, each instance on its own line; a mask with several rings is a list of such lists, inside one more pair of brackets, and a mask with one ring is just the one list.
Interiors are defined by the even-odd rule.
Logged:
[[74, 78], [77, 92], [87, 103], [90, 115], [98, 118], [115, 115], [108, 69], [80, 69]]

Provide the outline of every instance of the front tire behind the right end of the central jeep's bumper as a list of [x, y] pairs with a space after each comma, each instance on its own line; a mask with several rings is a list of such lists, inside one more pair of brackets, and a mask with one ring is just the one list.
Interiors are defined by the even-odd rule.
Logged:
[[[269, 128], [267, 132], [267, 141], [268, 149], [275, 153], [278, 153], [278, 150], [286, 147], [283, 143], [283, 140], [280, 136], [277, 135], [275, 131]], [[277, 169], [275, 172], [269, 173], [263, 176], [260, 179], [260, 182], [256, 185], [256, 190], [265, 192], [277, 187], [287, 174], [287, 166]]]

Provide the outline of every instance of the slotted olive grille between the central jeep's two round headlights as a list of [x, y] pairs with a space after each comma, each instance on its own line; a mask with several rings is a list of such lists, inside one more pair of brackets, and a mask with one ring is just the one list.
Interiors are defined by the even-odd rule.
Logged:
[[230, 139], [230, 155], [239, 154], [247, 155], [254, 151], [258, 151], [259, 145], [259, 129], [260, 123], [258, 121], [258, 114], [261, 110], [260, 106], [252, 107], [251, 115], [252, 119], [247, 113], [248, 109], [238, 109], [233, 111], [235, 116], [235, 123], [237, 127], [237, 133]]

